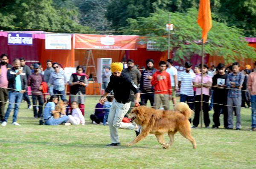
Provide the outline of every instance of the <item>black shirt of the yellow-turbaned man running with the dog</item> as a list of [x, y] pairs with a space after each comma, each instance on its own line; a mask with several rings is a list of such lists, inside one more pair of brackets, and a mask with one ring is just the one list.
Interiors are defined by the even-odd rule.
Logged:
[[114, 97], [119, 103], [128, 103], [131, 101], [131, 90], [134, 95], [140, 92], [140, 89], [135, 85], [127, 74], [121, 73], [119, 77], [113, 74], [110, 77], [106, 92], [110, 93], [113, 90]]

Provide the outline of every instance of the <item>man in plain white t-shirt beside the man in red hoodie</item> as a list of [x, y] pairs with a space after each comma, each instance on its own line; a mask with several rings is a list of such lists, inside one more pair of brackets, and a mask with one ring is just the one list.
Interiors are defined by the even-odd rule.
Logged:
[[166, 72], [170, 74], [171, 78], [171, 86], [172, 86], [172, 104], [175, 106], [176, 104], [176, 88], [177, 88], [177, 83], [178, 83], [178, 77], [177, 77], [177, 69], [173, 66], [173, 60], [172, 59], [167, 59], [167, 66], [168, 68], [166, 69]]

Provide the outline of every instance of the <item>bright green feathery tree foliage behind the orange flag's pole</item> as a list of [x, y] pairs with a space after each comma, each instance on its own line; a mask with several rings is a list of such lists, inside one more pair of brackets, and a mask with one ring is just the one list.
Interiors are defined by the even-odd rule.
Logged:
[[[140, 34], [150, 37], [160, 44], [160, 50], [168, 49], [168, 32], [164, 28], [168, 23], [169, 14], [175, 29], [171, 31], [170, 49], [175, 53], [175, 60], [189, 59], [193, 54], [201, 55], [201, 28], [198, 26], [198, 11], [188, 9], [186, 13], [167, 12], [158, 9], [150, 17], [127, 19], [128, 26], [124, 30], [155, 29], [146, 31], [125, 32], [125, 34]], [[228, 27], [224, 23], [212, 21], [212, 29], [208, 33], [204, 51], [212, 56], [224, 57], [232, 62], [243, 58], [256, 59], [254, 48], [248, 46], [243, 37], [243, 31], [236, 27]]]

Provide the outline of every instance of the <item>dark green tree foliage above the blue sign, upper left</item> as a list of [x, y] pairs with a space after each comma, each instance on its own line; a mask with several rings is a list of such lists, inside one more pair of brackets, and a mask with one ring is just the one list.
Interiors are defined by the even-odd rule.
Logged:
[[[52, 0], [16, 0], [6, 2], [0, 9], [0, 25], [5, 30], [52, 30], [52, 32], [84, 32], [91, 29], [76, 21], [76, 9], [57, 7]], [[0, 26], [1, 27], [1, 26]], [[24, 29], [30, 28], [30, 29]], [[51, 32], [51, 31], [48, 31]]]

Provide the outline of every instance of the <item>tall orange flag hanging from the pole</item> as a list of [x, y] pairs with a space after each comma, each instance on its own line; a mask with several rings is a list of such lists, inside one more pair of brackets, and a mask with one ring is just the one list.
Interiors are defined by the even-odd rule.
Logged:
[[210, 0], [200, 0], [198, 10], [198, 25], [203, 29], [202, 38], [203, 42], [205, 43], [207, 40], [207, 33], [212, 28]]

